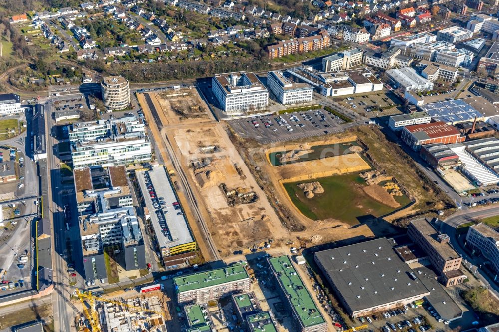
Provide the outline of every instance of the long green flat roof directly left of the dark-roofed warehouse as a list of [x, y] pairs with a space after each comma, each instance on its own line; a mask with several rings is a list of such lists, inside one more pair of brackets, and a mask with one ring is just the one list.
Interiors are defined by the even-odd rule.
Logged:
[[303, 281], [291, 264], [289, 257], [273, 257], [268, 261], [301, 324], [304, 327], [324, 324], [324, 318], [315, 306], [310, 293], [303, 285]]

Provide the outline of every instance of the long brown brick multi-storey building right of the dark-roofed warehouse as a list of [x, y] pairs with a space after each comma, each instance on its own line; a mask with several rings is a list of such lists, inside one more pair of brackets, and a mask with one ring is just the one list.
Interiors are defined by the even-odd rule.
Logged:
[[409, 237], [427, 255], [446, 287], [462, 283], [467, 277], [460, 270], [461, 256], [449, 244], [447, 234], [439, 234], [426, 219], [413, 220], [407, 230]]

